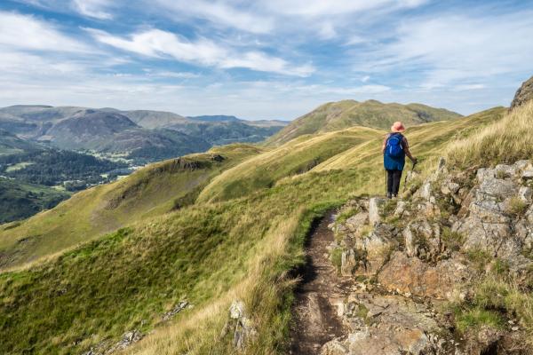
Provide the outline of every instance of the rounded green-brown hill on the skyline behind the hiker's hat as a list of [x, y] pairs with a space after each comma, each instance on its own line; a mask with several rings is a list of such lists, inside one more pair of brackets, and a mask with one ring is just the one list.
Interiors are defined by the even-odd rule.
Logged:
[[343, 100], [317, 107], [267, 139], [267, 145], [276, 146], [303, 134], [343, 130], [365, 126], [388, 130], [395, 121], [407, 127], [425, 122], [446, 121], [461, 117], [442, 108], [421, 104], [384, 104], [377, 100], [358, 102]]

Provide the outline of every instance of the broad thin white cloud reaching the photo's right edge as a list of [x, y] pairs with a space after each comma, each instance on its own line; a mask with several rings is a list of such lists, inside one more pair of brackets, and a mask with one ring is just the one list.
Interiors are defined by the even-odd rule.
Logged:
[[414, 18], [403, 22], [395, 36], [395, 42], [366, 58], [375, 63], [371, 69], [418, 68], [427, 89], [527, 72], [533, 62], [531, 12]]

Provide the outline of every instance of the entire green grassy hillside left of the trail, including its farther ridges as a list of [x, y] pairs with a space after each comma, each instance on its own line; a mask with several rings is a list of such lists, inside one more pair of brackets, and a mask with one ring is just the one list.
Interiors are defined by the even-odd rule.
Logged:
[[[457, 139], [504, 114], [497, 107], [408, 130], [422, 174]], [[12, 270], [0, 274], [0, 352], [83, 353], [137, 330], [146, 338], [125, 353], [235, 353], [233, 333], [222, 330], [229, 304], [242, 299], [257, 329], [243, 353], [283, 353], [290, 271], [305, 260], [306, 232], [326, 209], [381, 192], [384, 133], [354, 127], [272, 150], [221, 147], [154, 164], [4, 225], [0, 257]], [[529, 150], [513, 149], [513, 158], [529, 158]], [[81, 241], [89, 242], [76, 246]], [[38, 256], [50, 257], [18, 267]], [[194, 306], [162, 323], [184, 299]]]

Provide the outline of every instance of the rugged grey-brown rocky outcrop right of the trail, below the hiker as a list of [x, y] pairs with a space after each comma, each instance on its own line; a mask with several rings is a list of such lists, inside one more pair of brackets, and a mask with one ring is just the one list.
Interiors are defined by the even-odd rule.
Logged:
[[531, 287], [533, 164], [450, 172], [441, 160], [418, 186], [405, 201], [350, 201], [357, 213], [330, 225], [359, 284], [338, 305], [348, 332], [322, 354], [522, 353], [518, 327], [473, 327], [457, 343], [442, 304], [472, 301], [495, 263]]

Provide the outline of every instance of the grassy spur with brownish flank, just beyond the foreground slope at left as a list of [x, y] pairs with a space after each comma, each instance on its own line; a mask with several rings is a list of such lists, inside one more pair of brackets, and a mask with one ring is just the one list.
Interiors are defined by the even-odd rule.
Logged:
[[[76, 193], [23, 223], [4, 225], [0, 227], [0, 267], [24, 264], [187, 205], [211, 177], [260, 151], [254, 146], [231, 145], [155, 163], [113, 184]], [[225, 159], [213, 161], [215, 154]]]

